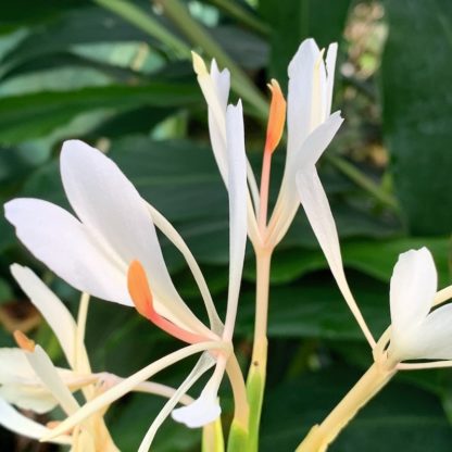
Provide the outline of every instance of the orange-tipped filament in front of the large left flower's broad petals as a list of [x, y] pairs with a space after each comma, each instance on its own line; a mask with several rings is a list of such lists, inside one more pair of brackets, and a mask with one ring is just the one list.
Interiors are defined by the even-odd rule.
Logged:
[[128, 267], [127, 287], [136, 310], [160, 329], [163, 329], [168, 335], [188, 343], [197, 343], [206, 340], [204, 337], [187, 331], [158, 314], [154, 309], [148, 277], [146, 276], [145, 268], [138, 261], [133, 261]]

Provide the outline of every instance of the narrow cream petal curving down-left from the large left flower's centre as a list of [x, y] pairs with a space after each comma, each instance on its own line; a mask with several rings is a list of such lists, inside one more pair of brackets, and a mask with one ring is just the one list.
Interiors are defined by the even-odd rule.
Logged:
[[164, 368], [171, 366], [174, 363], [177, 363], [180, 360], [184, 360], [192, 354], [203, 352], [205, 350], [223, 350], [226, 344], [223, 342], [200, 342], [193, 346], [185, 347], [184, 349], [177, 350], [176, 352], [170, 353], [168, 355], [149, 364], [142, 369], [138, 371], [130, 377], [118, 382], [112, 389], [103, 392], [92, 401], [86, 403], [80, 410], [78, 410], [74, 415], [67, 417], [55, 427], [51, 435], [47, 436], [45, 439], [53, 438], [54, 436], [64, 434], [71, 428], [75, 427], [77, 424], [86, 419], [87, 417], [95, 414], [97, 411], [102, 410], [104, 406], [110, 405], [115, 400], [122, 398], [126, 393], [134, 390], [134, 388], [142, 381], [148, 380], [153, 375], [163, 371]]

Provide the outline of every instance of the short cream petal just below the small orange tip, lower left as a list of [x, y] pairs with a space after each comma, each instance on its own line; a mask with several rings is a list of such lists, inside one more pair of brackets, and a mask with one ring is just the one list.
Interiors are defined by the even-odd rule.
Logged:
[[79, 409], [79, 405], [42, 348], [36, 346], [35, 351], [26, 352], [26, 357], [36, 375], [58, 400], [65, 413], [68, 415], [74, 414]]

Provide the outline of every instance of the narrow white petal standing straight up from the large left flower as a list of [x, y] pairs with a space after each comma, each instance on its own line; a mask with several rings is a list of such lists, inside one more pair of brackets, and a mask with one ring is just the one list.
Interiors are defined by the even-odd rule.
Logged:
[[247, 159], [241, 102], [226, 113], [229, 166], [229, 288], [225, 339], [233, 338], [247, 244]]

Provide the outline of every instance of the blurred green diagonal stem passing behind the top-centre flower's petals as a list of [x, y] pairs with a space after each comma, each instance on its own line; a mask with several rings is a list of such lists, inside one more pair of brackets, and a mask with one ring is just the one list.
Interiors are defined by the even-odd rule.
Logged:
[[190, 15], [187, 8], [178, 0], [155, 0], [163, 9], [165, 15], [187, 36], [193, 46], [200, 47], [209, 56], [215, 58], [222, 67], [231, 73], [233, 89], [246, 100], [254, 110], [254, 114], [262, 120], [266, 118], [268, 103], [258, 90], [248, 75], [225, 53], [209, 35], [209, 33]]

